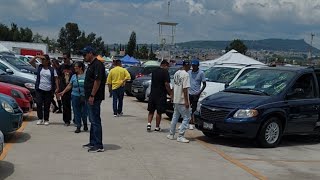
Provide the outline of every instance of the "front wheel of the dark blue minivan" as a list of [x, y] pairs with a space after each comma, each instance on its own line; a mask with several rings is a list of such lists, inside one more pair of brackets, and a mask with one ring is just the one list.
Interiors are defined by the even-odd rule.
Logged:
[[257, 140], [261, 147], [276, 147], [282, 136], [282, 124], [278, 118], [272, 117], [261, 126]]

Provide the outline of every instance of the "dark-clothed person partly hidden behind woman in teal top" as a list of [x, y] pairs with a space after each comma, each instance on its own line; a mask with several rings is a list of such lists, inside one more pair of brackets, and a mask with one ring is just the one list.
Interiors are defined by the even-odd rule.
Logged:
[[[63, 64], [59, 67], [60, 91], [63, 91], [70, 82], [74, 69], [71, 64], [70, 53], [63, 53]], [[66, 92], [62, 100], [62, 116], [65, 126], [69, 126], [71, 122], [71, 91]]]

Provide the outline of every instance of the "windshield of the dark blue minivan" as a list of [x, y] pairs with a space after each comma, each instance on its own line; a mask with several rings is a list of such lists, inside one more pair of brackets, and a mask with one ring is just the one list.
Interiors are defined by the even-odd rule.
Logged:
[[295, 76], [292, 71], [257, 69], [253, 70], [230, 85], [225, 92], [256, 95], [278, 95]]

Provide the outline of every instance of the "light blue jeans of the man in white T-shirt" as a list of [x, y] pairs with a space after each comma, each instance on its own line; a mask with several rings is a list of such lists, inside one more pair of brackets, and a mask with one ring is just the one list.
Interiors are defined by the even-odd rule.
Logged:
[[183, 118], [183, 120], [180, 126], [178, 137], [183, 137], [184, 133], [186, 132], [189, 126], [189, 121], [191, 119], [190, 109], [187, 109], [184, 104], [174, 104], [174, 112], [173, 112], [171, 126], [170, 126], [171, 135], [174, 135], [176, 133], [176, 125], [178, 123], [180, 115]]

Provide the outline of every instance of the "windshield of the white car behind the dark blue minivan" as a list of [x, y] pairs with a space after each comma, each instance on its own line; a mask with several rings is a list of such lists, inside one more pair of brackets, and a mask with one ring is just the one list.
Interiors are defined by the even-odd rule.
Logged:
[[212, 67], [206, 70], [205, 76], [209, 82], [230, 83], [240, 70], [232, 67]]

